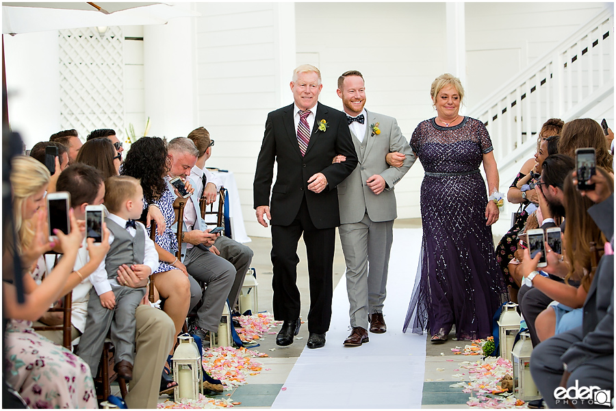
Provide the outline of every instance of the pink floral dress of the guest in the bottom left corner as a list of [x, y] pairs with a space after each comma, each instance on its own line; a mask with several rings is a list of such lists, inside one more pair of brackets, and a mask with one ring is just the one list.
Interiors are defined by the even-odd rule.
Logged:
[[[35, 280], [42, 267], [44, 260], [31, 273]], [[88, 365], [35, 332], [31, 321], [8, 321], [4, 343], [4, 377], [29, 408], [98, 408]]]

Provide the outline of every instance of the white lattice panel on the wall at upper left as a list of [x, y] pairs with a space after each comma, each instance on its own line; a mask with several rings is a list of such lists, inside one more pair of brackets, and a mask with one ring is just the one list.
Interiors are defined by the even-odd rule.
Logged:
[[60, 123], [79, 136], [93, 129], [125, 134], [124, 36], [109, 27], [101, 36], [95, 28], [60, 30]]

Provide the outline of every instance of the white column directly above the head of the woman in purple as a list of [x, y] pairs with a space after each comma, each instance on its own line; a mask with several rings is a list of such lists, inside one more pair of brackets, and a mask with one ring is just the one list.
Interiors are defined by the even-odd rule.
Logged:
[[447, 71], [466, 84], [466, 40], [464, 3], [446, 3]]

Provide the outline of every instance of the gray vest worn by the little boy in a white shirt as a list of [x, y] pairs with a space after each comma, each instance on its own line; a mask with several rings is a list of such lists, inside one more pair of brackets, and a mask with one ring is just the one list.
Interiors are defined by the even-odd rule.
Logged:
[[105, 219], [107, 228], [114, 234], [114, 242], [105, 258], [107, 278], [118, 277], [118, 269], [122, 264], [143, 264], [145, 255], [145, 235], [140, 223], [137, 223], [137, 234], [131, 236], [125, 227], [111, 219]]

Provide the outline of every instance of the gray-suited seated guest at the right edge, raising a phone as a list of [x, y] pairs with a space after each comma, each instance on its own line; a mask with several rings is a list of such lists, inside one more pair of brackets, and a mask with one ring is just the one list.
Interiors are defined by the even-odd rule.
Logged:
[[[573, 406], [570, 399], [556, 399], [556, 390], [560, 390], [561, 398], [565, 390], [574, 386], [614, 392], [614, 195], [603, 173], [593, 175], [591, 182], [595, 189], [583, 193], [596, 204], [588, 212], [610, 242], [605, 244], [606, 252], [590, 285], [582, 309], [582, 325], [548, 338], [532, 351], [530, 373], [549, 408]], [[528, 262], [522, 264], [528, 273], [539, 257], [531, 260], [527, 251], [526, 258]], [[588, 401], [594, 399], [592, 392], [586, 395], [584, 401], [577, 400], [576, 408], [611, 406], [611, 397], [600, 404]]]

